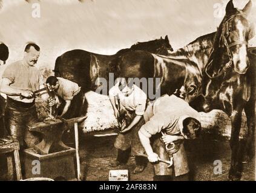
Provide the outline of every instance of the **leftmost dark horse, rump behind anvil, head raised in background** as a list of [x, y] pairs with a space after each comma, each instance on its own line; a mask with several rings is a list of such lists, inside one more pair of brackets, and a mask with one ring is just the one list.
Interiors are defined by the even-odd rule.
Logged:
[[[57, 57], [54, 72], [57, 77], [67, 78], [74, 81], [82, 87], [82, 92], [86, 93], [90, 90], [96, 91], [100, 86], [98, 85], [99, 78], [105, 78], [109, 82], [110, 73], [114, 74], [114, 79], [117, 78], [118, 69], [116, 68], [119, 57], [129, 51], [145, 50], [152, 53], [168, 54], [173, 51], [169, 44], [168, 36], [165, 39], [151, 40], [149, 42], [138, 42], [131, 46], [131, 48], [121, 49], [114, 55], [102, 55], [81, 49], [74, 49], [65, 52]], [[109, 85], [108, 85], [108, 89]], [[106, 92], [105, 94], [108, 94]], [[85, 98], [81, 99], [85, 100]], [[86, 101], [85, 101], [86, 102]], [[77, 103], [77, 112], [84, 115], [86, 113], [86, 105], [82, 106], [83, 101]]]

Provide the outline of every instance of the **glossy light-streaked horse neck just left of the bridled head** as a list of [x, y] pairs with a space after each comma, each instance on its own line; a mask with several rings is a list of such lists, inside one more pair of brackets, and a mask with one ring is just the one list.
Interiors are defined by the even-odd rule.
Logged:
[[169, 56], [175, 57], [176, 59], [191, 60], [197, 64], [202, 74], [214, 46], [214, 37], [215, 33], [199, 37], [185, 47], [169, 52]]

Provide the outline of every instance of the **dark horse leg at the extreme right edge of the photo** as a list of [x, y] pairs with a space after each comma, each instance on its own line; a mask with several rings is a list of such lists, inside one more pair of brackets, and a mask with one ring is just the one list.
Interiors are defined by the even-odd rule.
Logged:
[[250, 100], [245, 105], [245, 113], [247, 118], [248, 136], [245, 146], [245, 163], [254, 156], [255, 150], [255, 101]]

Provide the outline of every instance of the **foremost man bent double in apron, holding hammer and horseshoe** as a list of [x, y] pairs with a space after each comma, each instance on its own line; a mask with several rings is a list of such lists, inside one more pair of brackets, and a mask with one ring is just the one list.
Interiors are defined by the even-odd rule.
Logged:
[[154, 164], [154, 180], [189, 180], [183, 141], [197, 138], [199, 113], [175, 95], [162, 96], [152, 107], [153, 116], [138, 134], [149, 162]]

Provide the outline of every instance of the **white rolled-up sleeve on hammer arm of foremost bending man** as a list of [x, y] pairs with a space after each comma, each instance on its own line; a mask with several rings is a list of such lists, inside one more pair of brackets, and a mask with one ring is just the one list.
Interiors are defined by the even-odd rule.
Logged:
[[152, 135], [160, 133], [164, 128], [168, 128], [170, 119], [168, 116], [159, 113], [154, 115], [140, 128], [140, 132], [146, 137], [151, 138]]

